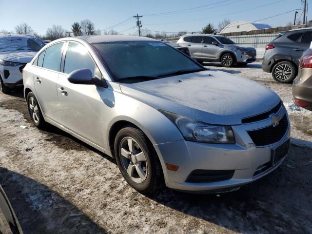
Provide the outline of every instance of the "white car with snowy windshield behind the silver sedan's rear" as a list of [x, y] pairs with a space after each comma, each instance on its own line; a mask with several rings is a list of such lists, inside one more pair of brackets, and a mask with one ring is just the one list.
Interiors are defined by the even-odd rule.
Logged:
[[45, 44], [36, 36], [0, 36], [0, 89], [8, 94], [23, 84], [22, 70]]

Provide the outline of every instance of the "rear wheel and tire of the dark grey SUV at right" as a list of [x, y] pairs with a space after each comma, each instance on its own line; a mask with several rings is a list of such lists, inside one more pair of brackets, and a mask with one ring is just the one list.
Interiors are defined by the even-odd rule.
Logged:
[[297, 76], [297, 69], [290, 61], [276, 63], [272, 69], [272, 77], [279, 83], [289, 83]]

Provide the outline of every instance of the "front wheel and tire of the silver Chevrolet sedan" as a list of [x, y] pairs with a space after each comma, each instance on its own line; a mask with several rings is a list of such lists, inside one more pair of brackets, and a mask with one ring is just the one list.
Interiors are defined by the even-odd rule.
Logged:
[[115, 138], [114, 151], [119, 170], [131, 187], [142, 194], [152, 194], [162, 187], [159, 159], [142, 131], [132, 126], [121, 129]]

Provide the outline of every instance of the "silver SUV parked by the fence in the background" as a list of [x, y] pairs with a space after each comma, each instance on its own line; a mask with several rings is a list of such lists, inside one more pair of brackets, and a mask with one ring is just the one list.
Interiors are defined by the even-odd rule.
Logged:
[[237, 45], [231, 39], [221, 35], [186, 34], [176, 42], [187, 46], [192, 58], [199, 62], [221, 62], [224, 67], [236, 63], [246, 65], [254, 62], [256, 50], [253, 47]]

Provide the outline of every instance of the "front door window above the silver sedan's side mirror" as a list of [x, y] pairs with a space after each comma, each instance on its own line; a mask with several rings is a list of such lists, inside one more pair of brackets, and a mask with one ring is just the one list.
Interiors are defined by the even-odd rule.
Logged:
[[69, 42], [65, 57], [64, 73], [69, 74], [77, 69], [87, 68], [90, 69], [94, 76], [95, 67], [94, 61], [83, 45], [76, 42]]

